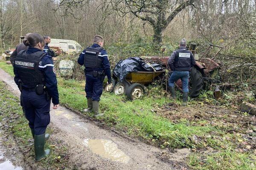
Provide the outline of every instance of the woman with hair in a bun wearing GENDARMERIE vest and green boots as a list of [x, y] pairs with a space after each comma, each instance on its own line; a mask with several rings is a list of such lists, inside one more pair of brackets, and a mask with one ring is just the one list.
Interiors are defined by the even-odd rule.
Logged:
[[23, 43], [29, 48], [20, 51], [14, 60], [14, 81], [21, 91], [25, 116], [34, 138], [35, 161], [40, 161], [50, 153], [49, 149], [44, 150], [45, 140], [49, 139], [45, 131], [50, 122], [50, 99], [53, 109], [59, 104], [57, 79], [52, 58], [43, 52], [43, 37], [31, 33]]

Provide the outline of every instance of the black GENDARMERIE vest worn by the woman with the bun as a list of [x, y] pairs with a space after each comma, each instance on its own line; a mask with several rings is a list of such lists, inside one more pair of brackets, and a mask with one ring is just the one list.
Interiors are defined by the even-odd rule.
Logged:
[[44, 73], [38, 69], [39, 62], [46, 53], [38, 51], [32, 54], [26, 54], [26, 50], [20, 51], [14, 61], [14, 67], [26, 86], [44, 85]]

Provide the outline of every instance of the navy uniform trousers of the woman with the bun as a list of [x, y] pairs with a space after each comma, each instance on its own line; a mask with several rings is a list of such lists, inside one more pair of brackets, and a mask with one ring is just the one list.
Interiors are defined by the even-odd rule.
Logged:
[[47, 125], [50, 123], [51, 101], [46, 100], [45, 94], [38, 95], [35, 91], [22, 90], [21, 93], [29, 127], [34, 129], [35, 135], [45, 133]]

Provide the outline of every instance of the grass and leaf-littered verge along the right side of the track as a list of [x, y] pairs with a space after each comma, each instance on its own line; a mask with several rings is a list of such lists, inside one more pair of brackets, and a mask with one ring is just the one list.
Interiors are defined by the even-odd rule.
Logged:
[[[87, 108], [84, 83], [58, 78], [61, 104], [81, 112]], [[253, 129], [243, 122], [253, 120], [232, 109], [213, 108], [207, 107], [204, 101], [190, 102], [184, 108], [180, 107], [179, 101], [174, 102], [165, 96], [148, 95], [128, 101], [125, 96], [103, 92], [100, 109], [105, 116], [97, 119], [108, 127], [115, 127], [161, 148], [191, 148], [193, 153], [188, 164], [192, 169], [255, 168], [255, 134], [247, 134], [250, 139], [243, 136], [246, 130]], [[92, 113], [83, 114], [93, 118]], [[172, 116], [174, 119], [170, 118]]]

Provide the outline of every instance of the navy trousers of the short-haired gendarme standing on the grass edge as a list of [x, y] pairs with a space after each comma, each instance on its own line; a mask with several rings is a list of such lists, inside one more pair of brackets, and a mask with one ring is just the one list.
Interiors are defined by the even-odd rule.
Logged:
[[102, 95], [103, 82], [100, 77], [86, 74], [85, 76], [85, 92], [86, 98], [92, 98], [93, 101], [99, 101]]

